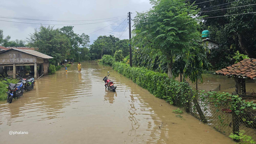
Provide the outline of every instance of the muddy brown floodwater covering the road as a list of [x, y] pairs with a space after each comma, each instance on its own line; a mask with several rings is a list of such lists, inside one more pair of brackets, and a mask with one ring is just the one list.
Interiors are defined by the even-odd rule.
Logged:
[[[104, 87], [107, 71], [116, 92]], [[61, 69], [12, 104], [0, 102], [0, 143], [234, 143], [174, 109], [111, 67], [84, 62], [81, 73], [76, 66]]]

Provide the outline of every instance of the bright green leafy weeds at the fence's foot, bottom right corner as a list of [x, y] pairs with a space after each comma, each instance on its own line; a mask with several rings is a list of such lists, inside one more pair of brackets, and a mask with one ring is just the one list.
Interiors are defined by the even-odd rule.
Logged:
[[255, 141], [252, 139], [252, 137], [244, 135], [244, 133], [244, 130], [240, 130], [238, 134], [231, 133], [229, 138], [240, 140], [239, 144], [255, 144]]

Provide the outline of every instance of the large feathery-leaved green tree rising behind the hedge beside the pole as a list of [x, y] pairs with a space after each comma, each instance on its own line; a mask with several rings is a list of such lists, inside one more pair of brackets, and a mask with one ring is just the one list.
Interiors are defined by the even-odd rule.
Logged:
[[173, 58], [197, 43], [200, 33], [198, 9], [182, 0], [150, 0], [153, 8], [137, 13], [134, 20], [133, 43], [139, 47], [159, 49], [166, 56], [168, 77], [172, 78]]

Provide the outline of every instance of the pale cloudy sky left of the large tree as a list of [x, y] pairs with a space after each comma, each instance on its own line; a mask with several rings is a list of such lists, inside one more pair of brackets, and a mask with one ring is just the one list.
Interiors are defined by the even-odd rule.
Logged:
[[2, 0], [0, 1], [0, 29], [4, 30], [4, 36], [11, 36], [11, 40], [25, 40], [35, 31], [35, 28], [40, 27], [40, 24], [46, 24], [46, 26], [53, 24], [51, 26], [54, 28], [73, 25], [74, 32], [89, 34], [90, 43], [98, 36], [108, 35], [111, 31], [113, 31], [111, 35], [128, 39], [127, 13], [132, 12], [133, 18], [136, 11], [145, 11], [151, 7], [149, 0]]

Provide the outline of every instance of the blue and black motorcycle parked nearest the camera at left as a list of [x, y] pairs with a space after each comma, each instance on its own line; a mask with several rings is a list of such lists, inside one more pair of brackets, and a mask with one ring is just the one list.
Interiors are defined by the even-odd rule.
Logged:
[[[22, 78], [20, 78], [22, 80]], [[4, 79], [5, 81], [7, 81], [7, 79]], [[6, 92], [7, 95], [7, 102], [12, 103], [12, 99], [16, 99], [19, 98], [20, 96], [23, 95], [24, 92], [24, 86], [22, 84], [22, 81], [19, 81], [19, 83], [17, 84], [13, 84], [13, 83], [9, 83], [9, 81], [7, 81], [8, 83], [4, 83], [4, 84], [8, 84], [8, 91]]]

